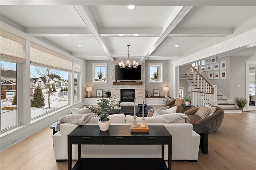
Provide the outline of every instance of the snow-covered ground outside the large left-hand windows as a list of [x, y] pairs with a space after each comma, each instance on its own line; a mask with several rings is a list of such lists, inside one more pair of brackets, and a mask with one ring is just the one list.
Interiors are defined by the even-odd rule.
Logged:
[[[56, 91], [57, 92], [54, 92], [50, 96], [50, 108], [48, 108], [48, 94], [46, 93], [45, 89], [42, 89], [45, 106], [42, 108], [31, 107], [31, 118], [42, 115], [49, 111], [53, 111], [54, 109], [58, 109], [59, 107], [68, 104], [68, 95], [58, 97], [58, 92], [60, 92], [60, 88], [56, 89]], [[13, 92], [6, 92], [6, 99], [1, 99], [1, 129], [5, 129], [6, 127], [16, 125], [16, 110], [2, 110], [2, 107], [4, 106], [16, 106], [12, 105], [13, 97]]]

